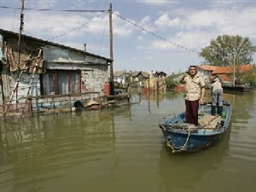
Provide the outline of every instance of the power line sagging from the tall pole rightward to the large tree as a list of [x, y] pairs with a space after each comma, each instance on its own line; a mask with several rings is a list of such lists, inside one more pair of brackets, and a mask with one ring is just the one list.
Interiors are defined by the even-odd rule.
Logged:
[[177, 47], [179, 47], [179, 48], [186, 49], [186, 50], [189, 50], [189, 51], [194, 52], [194, 53], [196, 53], [196, 54], [199, 54], [199, 52], [198, 52], [197, 50], [186, 48], [186, 47], [184, 47], [183, 45], [176, 44], [176, 43], [174, 43], [174, 42], [172, 42], [172, 41], [170, 41], [170, 40], [168, 40], [168, 39], [166, 39], [166, 38], [162, 38], [162, 37], [160, 37], [159, 35], [157, 35], [156, 33], [150, 32], [149, 30], [143, 28], [143, 26], [139, 26], [139, 25], [137, 25], [136, 23], [132, 22], [131, 20], [125, 19], [125, 17], [123, 17], [123, 16], [121, 16], [121, 15], [118, 15], [118, 14], [116, 14], [116, 13], [113, 13], [113, 15], [118, 16], [121, 20], [125, 20], [126, 22], [130, 23], [132, 26], [136, 26], [137, 28], [143, 30], [144, 32], [147, 32], [148, 34], [153, 35], [155, 38], [160, 38], [161, 40], [166, 41], [166, 42], [169, 43], [169, 44], [174, 44], [175, 46], [177, 46]]

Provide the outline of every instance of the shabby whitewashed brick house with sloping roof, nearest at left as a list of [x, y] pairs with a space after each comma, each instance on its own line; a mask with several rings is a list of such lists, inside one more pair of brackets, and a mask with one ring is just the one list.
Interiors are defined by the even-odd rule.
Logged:
[[39, 112], [47, 108], [70, 108], [77, 101], [104, 96], [110, 59], [22, 35], [19, 62], [19, 34], [0, 29], [0, 35], [3, 38], [0, 103], [29, 101], [32, 111]]

